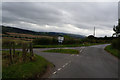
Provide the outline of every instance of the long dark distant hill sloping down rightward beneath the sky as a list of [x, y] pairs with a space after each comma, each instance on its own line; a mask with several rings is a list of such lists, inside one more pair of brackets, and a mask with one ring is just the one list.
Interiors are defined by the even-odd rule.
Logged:
[[10, 26], [0, 26], [2, 27], [2, 33], [6, 34], [7, 32], [9, 33], [22, 33], [22, 34], [32, 34], [32, 35], [45, 35], [45, 36], [70, 36], [73, 38], [84, 38], [85, 36], [83, 35], [76, 35], [76, 34], [68, 34], [68, 33], [58, 33], [58, 32], [35, 32], [35, 31], [30, 31], [30, 30], [25, 30], [25, 29], [20, 29], [20, 28], [15, 28], [15, 27], [10, 27]]

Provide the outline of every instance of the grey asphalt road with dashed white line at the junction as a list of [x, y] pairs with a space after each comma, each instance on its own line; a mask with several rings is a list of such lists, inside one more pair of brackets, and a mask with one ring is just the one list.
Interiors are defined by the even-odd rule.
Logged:
[[34, 53], [55, 65], [49, 78], [118, 78], [118, 59], [105, 46], [71, 47], [80, 51], [78, 55], [42, 52], [53, 48], [34, 49]]

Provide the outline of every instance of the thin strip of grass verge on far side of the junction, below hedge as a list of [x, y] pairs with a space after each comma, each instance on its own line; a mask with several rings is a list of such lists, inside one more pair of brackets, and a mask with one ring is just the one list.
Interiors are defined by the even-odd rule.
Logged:
[[58, 48], [58, 47], [81, 47], [99, 45], [102, 43], [87, 43], [87, 44], [73, 44], [73, 45], [33, 45], [34, 48]]

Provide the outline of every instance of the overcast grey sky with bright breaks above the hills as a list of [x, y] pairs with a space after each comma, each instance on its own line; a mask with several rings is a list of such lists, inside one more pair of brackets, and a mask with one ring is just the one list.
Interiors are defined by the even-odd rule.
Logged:
[[111, 36], [117, 2], [3, 2], [2, 24], [39, 32]]

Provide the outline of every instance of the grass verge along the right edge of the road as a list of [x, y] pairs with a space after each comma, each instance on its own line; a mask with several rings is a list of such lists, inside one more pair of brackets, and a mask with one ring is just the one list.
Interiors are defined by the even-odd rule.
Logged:
[[120, 59], [120, 51], [117, 50], [117, 49], [112, 48], [111, 45], [106, 46], [105, 50]]

